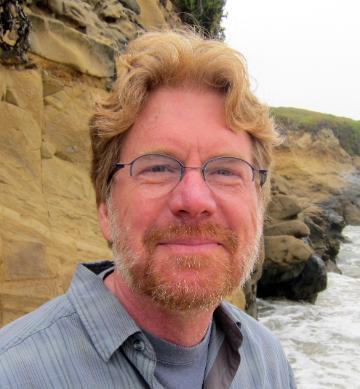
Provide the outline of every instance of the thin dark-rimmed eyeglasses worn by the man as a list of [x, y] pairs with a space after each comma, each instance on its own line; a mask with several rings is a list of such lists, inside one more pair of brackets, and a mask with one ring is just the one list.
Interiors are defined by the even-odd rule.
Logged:
[[130, 167], [130, 176], [140, 184], [151, 186], [161, 192], [171, 191], [184, 177], [186, 169], [200, 169], [203, 179], [210, 188], [226, 190], [227, 188], [244, 189], [252, 182], [264, 185], [267, 170], [256, 169], [249, 162], [237, 157], [215, 157], [204, 162], [202, 166], [185, 166], [177, 159], [162, 154], [145, 154], [129, 163], [116, 163], [109, 175], [108, 184], [114, 174]]

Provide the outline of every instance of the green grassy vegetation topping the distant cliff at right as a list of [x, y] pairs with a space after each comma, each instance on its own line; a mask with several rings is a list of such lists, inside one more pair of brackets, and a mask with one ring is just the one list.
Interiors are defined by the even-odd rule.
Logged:
[[360, 155], [360, 121], [299, 108], [271, 108], [275, 122], [292, 131], [316, 134], [329, 128], [350, 155]]

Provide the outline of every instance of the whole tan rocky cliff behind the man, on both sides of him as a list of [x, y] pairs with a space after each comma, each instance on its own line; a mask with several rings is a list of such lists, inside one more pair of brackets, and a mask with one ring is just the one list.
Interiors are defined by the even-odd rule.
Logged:
[[[115, 52], [139, 30], [180, 23], [170, 1], [28, 1], [24, 9], [29, 62], [0, 64], [0, 326], [63, 293], [76, 263], [111, 256], [88, 176], [88, 119], [114, 77]], [[264, 266], [233, 296], [254, 315], [261, 275], [264, 296], [314, 300], [344, 217], [356, 222], [360, 205], [352, 189], [360, 163], [332, 130], [284, 133]]]

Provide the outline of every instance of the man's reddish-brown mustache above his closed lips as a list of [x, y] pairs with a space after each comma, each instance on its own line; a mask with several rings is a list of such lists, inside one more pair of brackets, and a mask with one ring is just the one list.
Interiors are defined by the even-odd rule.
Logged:
[[164, 228], [151, 227], [145, 232], [143, 243], [151, 255], [161, 242], [187, 238], [214, 240], [231, 255], [235, 254], [238, 247], [238, 237], [235, 232], [214, 223], [169, 224]]

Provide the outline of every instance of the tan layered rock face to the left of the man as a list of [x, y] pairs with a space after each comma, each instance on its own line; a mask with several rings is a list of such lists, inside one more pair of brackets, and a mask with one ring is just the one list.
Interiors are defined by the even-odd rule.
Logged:
[[111, 257], [89, 178], [88, 121], [137, 31], [177, 26], [170, 2], [34, 1], [31, 66], [0, 64], [0, 326]]

